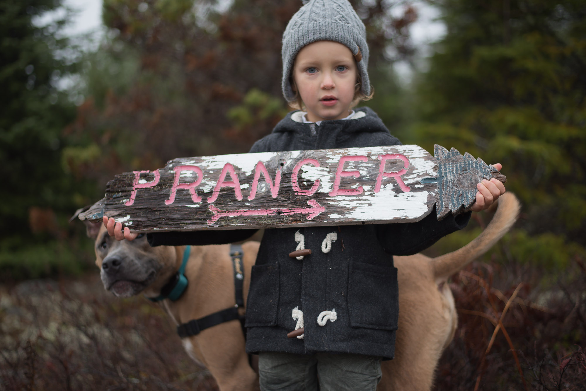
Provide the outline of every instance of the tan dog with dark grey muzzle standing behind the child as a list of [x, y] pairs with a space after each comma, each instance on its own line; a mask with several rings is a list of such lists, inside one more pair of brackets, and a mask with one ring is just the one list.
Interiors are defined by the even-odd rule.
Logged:
[[[396, 256], [399, 284], [399, 321], [395, 359], [383, 361], [378, 390], [429, 390], [442, 351], [458, 324], [454, 297], [447, 279], [478, 258], [514, 224], [519, 212], [515, 195], [503, 194], [492, 221], [478, 238], [454, 252], [429, 258], [417, 254]], [[143, 293], [155, 297], [177, 272], [185, 247], [151, 248], [144, 238], [116, 241], [103, 224], [88, 226], [96, 238], [96, 265], [104, 287], [117, 296]], [[244, 299], [250, 284], [258, 242], [244, 249]], [[186, 323], [233, 307], [234, 272], [229, 245], [192, 246], [185, 275], [189, 286], [177, 301], [163, 300], [176, 323]], [[246, 301], [245, 301], [246, 305]], [[258, 376], [248, 365], [239, 321], [229, 321], [183, 339], [188, 354], [209, 369], [220, 390], [258, 389]]]

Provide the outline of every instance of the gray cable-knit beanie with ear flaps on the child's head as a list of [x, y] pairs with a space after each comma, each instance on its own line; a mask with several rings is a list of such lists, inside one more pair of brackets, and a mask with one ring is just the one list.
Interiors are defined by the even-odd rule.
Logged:
[[348, 47], [354, 54], [362, 77], [362, 93], [370, 95], [368, 78], [368, 46], [366, 28], [348, 0], [302, 0], [303, 6], [289, 20], [283, 33], [281, 57], [283, 60], [282, 90], [285, 99], [294, 100], [291, 89], [291, 70], [295, 56], [302, 47], [317, 41], [334, 41]]

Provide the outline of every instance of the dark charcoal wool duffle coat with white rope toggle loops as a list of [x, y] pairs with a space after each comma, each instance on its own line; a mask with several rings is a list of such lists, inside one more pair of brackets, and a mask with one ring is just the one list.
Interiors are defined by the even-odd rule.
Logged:
[[[370, 108], [356, 111], [366, 115], [320, 125], [296, 122], [289, 113], [250, 152], [400, 145]], [[419, 222], [403, 224], [265, 229], [248, 292], [247, 351], [393, 358], [399, 310], [393, 255], [417, 253], [464, 228], [470, 218], [469, 212], [442, 221], [435, 215], [432, 211]], [[148, 239], [151, 245], [219, 244], [246, 239], [254, 232], [169, 232], [149, 234]], [[324, 241], [332, 232], [336, 240], [330, 240], [329, 252], [324, 252]], [[302, 260], [289, 258], [299, 235], [312, 250]], [[303, 313], [303, 339], [287, 338], [297, 324], [294, 310]], [[318, 324], [320, 315], [323, 325]], [[324, 315], [330, 316], [324, 320]]]

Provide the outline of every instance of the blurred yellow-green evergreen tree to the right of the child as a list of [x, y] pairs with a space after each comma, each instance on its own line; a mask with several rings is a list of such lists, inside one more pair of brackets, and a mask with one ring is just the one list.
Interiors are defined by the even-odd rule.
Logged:
[[524, 232], [513, 235], [515, 256], [527, 262], [543, 259], [540, 263], [552, 266], [546, 259], [565, 254], [557, 267], [567, 265], [570, 257], [583, 257], [584, 2], [434, 4], [441, 8], [447, 35], [437, 43], [429, 71], [418, 79], [418, 121], [404, 141], [428, 150], [438, 142], [488, 163], [503, 163], [507, 188], [524, 204]]

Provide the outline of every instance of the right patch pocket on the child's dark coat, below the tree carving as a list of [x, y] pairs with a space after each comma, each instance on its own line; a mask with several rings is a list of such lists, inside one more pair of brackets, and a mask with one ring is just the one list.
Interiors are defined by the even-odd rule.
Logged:
[[347, 300], [350, 326], [397, 330], [397, 268], [350, 262]]

